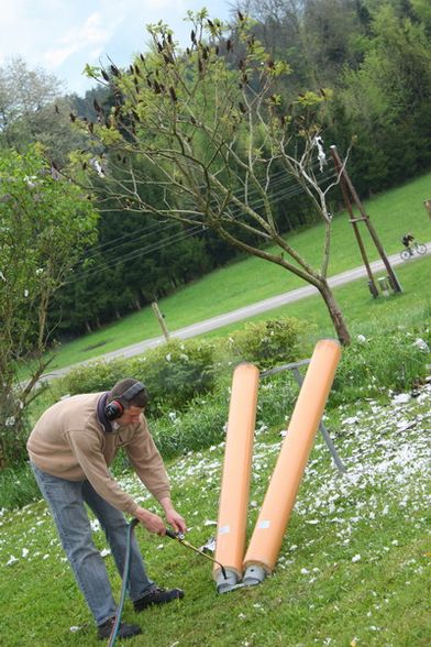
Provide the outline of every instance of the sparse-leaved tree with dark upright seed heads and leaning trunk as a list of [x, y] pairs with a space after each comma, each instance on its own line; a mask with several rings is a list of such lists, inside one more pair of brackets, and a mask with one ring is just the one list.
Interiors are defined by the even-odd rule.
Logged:
[[[318, 157], [321, 164], [324, 161], [316, 121], [327, 92], [307, 92], [287, 106], [277, 89], [290, 68], [266, 53], [247, 19], [240, 14], [233, 43], [206, 10], [189, 17], [191, 43], [186, 52], [178, 53], [170, 30], [158, 24], [148, 28], [153, 54], [137, 56], [126, 73], [114, 65], [109, 70], [90, 69], [117, 98], [109, 114], [96, 107], [98, 123], [84, 124], [95, 150], [102, 144], [110, 155], [107, 160], [96, 158], [95, 151], [77, 154], [76, 163], [104, 178], [110, 201], [210, 228], [230, 245], [316, 286], [340, 340], [349, 343], [327, 281], [331, 215], [328, 187], [320, 186]], [[239, 58], [236, 68], [231, 66], [231, 52]], [[286, 189], [292, 180], [299, 183], [310, 199], [309, 209], [324, 223], [319, 267], [279, 232], [272, 194], [280, 178]], [[146, 199], [142, 189], [147, 186], [163, 191], [163, 202]]]

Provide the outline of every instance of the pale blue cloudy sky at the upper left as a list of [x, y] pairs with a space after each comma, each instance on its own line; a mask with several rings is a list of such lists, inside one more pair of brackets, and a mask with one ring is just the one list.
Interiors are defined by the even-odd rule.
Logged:
[[228, 20], [228, 0], [0, 0], [0, 66], [20, 56], [30, 68], [55, 75], [65, 92], [84, 95], [95, 81], [82, 75], [90, 65], [129, 65], [147, 51], [145, 25], [163, 21], [181, 46], [189, 42], [187, 11], [206, 7]]

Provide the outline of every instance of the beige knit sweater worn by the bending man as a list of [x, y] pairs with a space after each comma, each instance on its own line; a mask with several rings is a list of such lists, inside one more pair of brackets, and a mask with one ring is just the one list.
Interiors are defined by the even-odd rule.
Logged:
[[53, 476], [67, 481], [88, 479], [100, 496], [133, 515], [139, 504], [109, 471], [120, 447], [158, 501], [169, 496], [169, 481], [144, 416], [137, 425], [118, 426], [112, 434], [107, 434], [97, 416], [101, 396], [101, 393], [74, 395], [49, 407], [29, 437], [29, 456]]

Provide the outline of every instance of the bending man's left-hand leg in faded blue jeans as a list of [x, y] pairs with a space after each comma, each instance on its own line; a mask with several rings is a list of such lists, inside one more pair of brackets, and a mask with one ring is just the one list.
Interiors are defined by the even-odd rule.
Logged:
[[51, 476], [32, 464], [43, 496], [48, 503], [63, 548], [75, 579], [98, 625], [113, 617], [117, 605], [103, 559], [91, 538], [82, 498], [82, 483]]

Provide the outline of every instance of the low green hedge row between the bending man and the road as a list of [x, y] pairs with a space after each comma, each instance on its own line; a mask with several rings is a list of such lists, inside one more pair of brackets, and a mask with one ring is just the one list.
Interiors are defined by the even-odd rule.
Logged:
[[152, 416], [184, 409], [213, 391], [223, 374], [230, 376], [236, 362], [254, 362], [263, 370], [299, 359], [302, 332], [297, 319], [283, 318], [247, 324], [226, 340], [173, 339], [131, 359], [76, 366], [53, 386], [53, 398], [108, 391], [123, 377], [135, 377], [148, 388]]

